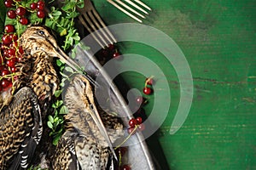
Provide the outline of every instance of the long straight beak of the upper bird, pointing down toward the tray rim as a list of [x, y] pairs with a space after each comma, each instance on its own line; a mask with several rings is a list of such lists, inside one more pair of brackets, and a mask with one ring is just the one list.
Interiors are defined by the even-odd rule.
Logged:
[[65, 54], [61, 48], [57, 47], [55, 48], [56, 54], [59, 54], [57, 56], [61, 61], [71, 68], [73, 68], [74, 71], [82, 72], [83, 75], [89, 80], [90, 83], [92, 83], [94, 86], [97, 86], [96, 82], [93, 80], [92, 77], [90, 77], [86, 72], [81, 68], [80, 65], [78, 65], [72, 58], [70, 58], [67, 54]]

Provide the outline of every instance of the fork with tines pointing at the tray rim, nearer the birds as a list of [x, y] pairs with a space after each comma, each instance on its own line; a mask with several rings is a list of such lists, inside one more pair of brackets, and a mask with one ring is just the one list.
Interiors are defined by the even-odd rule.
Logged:
[[[78, 11], [80, 13], [79, 20], [102, 48], [106, 48], [109, 44], [117, 42], [111, 31], [109, 31], [108, 27], [103, 22], [101, 16], [96, 12], [96, 8], [94, 8], [90, 0], [84, 0], [84, 8], [78, 8]], [[93, 33], [94, 31], [96, 31], [96, 33]]]

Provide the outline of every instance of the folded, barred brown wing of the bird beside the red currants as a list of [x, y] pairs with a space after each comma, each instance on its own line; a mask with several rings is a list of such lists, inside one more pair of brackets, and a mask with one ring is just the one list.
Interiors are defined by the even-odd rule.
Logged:
[[41, 139], [42, 119], [38, 99], [30, 88], [21, 88], [0, 114], [0, 148], [3, 166], [26, 168]]

